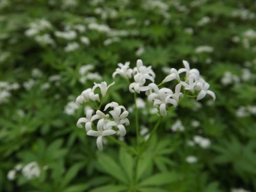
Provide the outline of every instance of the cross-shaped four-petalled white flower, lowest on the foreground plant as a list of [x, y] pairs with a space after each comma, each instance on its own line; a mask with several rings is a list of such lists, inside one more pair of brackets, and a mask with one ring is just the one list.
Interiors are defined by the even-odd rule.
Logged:
[[100, 119], [97, 123], [98, 131], [89, 130], [87, 132], [87, 135], [97, 137], [96, 143], [99, 151], [103, 150], [102, 138], [105, 136], [114, 135], [116, 133], [116, 131], [109, 129], [111, 126], [112, 122], [104, 123], [103, 119]]

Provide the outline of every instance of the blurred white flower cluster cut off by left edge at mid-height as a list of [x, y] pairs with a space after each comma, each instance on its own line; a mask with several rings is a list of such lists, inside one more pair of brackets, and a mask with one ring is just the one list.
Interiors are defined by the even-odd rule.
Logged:
[[19, 89], [18, 83], [0, 81], [0, 104], [8, 102], [8, 99], [11, 97], [11, 91], [17, 89]]

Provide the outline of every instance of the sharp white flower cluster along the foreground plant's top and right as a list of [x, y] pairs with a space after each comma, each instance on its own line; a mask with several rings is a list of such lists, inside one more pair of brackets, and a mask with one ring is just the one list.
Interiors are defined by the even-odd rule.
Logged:
[[[143, 66], [142, 60], [138, 59], [136, 68], [131, 69], [130, 63], [126, 62], [124, 65], [118, 63], [119, 68], [113, 73], [113, 78], [119, 74], [123, 78], [134, 78], [135, 82], [132, 82], [129, 86], [131, 93], [145, 92], [148, 96], [148, 101], [154, 102], [154, 107], [159, 109], [160, 114], [167, 115], [166, 108], [170, 109], [170, 105], [176, 107], [179, 103], [180, 97], [183, 97], [181, 88], [190, 91], [193, 95], [198, 92], [197, 100], [203, 99], [206, 94], [209, 94], [214, 100], [216, 99], [215, 93], [208, 90], [209, 84], [200, 76], [197, 69], [190, 69], [189, 63], [183, 61], [185, 68], [178, 71], [174, 68], [170, 69], [170, 74], [164, 78], [161, 84], [177, 80], [178, 84], [175, 87], [175, 92], [169, 88], [161, 88], [155, 84], [155, 73], [151, 69], [151, 66]], [[184, 81], [181, 80], [180, 74], [185, 73]]]

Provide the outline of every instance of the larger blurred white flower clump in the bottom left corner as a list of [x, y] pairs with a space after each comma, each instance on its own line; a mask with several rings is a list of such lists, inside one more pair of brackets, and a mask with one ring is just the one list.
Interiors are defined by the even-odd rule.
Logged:
[[36, 177], [40, 176], [40, 168], [37, 164], [37, 162], [33, 161], [27, 165], [25, 165], [22, 169], [22, 174], [24, 177], [26, 177], [28, 180], [34, 179]]

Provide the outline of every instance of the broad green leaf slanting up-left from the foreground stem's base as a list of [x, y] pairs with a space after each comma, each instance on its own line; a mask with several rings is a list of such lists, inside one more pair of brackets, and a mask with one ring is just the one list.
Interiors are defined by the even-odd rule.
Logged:
[[122, 183], [128, 183], [122, 168], [111, 157], [98, 153], [98, 163], [106, 173]]

